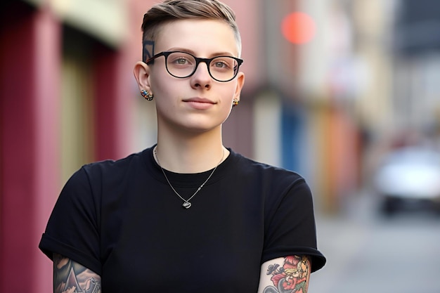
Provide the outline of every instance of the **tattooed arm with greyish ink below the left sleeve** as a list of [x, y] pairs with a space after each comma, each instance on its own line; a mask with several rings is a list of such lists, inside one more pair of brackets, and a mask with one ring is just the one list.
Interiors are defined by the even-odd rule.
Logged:
[[101, 276], [72, 259], [54, 253], [53, 292], [73, 293], [86, 290], [101, 293]]

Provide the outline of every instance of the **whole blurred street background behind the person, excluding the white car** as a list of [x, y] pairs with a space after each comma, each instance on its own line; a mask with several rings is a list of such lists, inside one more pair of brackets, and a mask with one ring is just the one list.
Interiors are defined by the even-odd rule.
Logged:
[[[51, 292], [37, 246], [74, 171], [155, 143], [132, 74], [155, 2], [1, 2], [0, 292]], [[246, 83], [224, 143], [311, 185], [328, 264], [309, 292], [439, 293], [435, 204], [385, 213], [375, 174], [396, 149], [439, 151], [440, 1], [225, 2]]]

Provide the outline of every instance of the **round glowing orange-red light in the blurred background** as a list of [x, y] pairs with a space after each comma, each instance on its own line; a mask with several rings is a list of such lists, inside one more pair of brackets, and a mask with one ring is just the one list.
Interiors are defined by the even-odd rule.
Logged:
[[287, 41], [293, 44], [304, 44], [313, 39], [316, 25], [308, 14], [294, 12], [286, 15], [281, 22], [281, 32]]

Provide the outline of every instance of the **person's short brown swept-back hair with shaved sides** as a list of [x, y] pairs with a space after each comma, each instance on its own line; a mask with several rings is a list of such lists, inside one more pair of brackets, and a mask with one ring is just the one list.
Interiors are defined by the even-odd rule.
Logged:
[[[153, 44], [154, 48], [154, 43], [163, 25], [176, 20], [188, 19], [224, 21], [235, 34], [238, 57], [240, 57], [241, 37], [237, 22], [235, 22], [235, 13], [229, 6], [218, 0], [165, 0], [160, 4], [155, 4], [143, 15], [141, 28], [144, 50], [145, 44]], [[149, 53], [155, 54], [151, 51]], [[144, 54], [144, 62], [145, 59]]]

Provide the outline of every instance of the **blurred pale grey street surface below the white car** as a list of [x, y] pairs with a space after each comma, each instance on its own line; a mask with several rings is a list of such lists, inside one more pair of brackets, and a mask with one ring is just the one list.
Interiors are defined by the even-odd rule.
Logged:
[[368, 195], [341, 216], [316, 217], [327, 264], [311, 275], [309, 293], [439, 293], [440, 218], [387, 219]]

